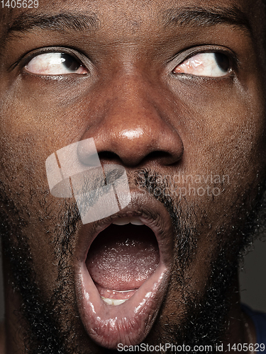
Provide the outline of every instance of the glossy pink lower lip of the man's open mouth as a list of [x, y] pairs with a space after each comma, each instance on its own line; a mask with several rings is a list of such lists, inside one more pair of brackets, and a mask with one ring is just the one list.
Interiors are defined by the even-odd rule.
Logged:
[[85, 262], [77, 272], [77, 304], [89, 336], [100, 346], [116, 349], [141, 343], [148, 335], [165, 297], [170, 272], [162, 262], [155, 273], [123, 304], [106, 304]]

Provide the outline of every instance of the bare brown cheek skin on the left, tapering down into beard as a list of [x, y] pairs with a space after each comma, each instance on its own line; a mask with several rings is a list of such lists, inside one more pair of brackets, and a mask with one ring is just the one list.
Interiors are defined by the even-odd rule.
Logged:
[[0, 115], [0, 181], [13, 205], [9, 207], [1, 200], [2, 210], [6, 222], [18, 229], [13, 241], [19, 244], [26, 239], [38, 285], [49, 298], [58, 271], [53, 243], [58, 224], [55, 215], [65, 206], [64, 201], [50, 196], [45, 171], [45, 160], [55, 151], [57, 141], [52, 113], [43, 113], [30, 98], [19, 93], [5, 98]]

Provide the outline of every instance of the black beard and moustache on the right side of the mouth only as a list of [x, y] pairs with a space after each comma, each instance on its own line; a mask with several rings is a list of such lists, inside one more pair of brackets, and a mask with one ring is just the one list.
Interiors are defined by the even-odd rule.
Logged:
[[[142, 180], [146, 181], [145, 187], [149, 193], [155, 195], [155, 190], [165, 190], [169, 188], [167, 183], [157, 183], [156, 173], [150, 173], [148, 170], [140, 171]], [[159, 178], [160, 181], [160, 178]], [[143, 181], [142, 181], [143, 187]], [[223, 188], [223, 185], [221, 185]], [[179, 235], [176, 238], [175, 248], [178, 250], [175, 253], [175, 261], [183, 264], [181, 270], [177, 270], [175, 284], [173, 287], [182, 288], [182, 299], [187, 304], [186, 311], [183, 314], [184, 321], [177, 321], [179, 324], [168, 326], [158, 325], [160, 331], [157, 331], [147, 338], [150, 345], [160, 345], [160, 343], [173, 343], [178, 346], [189, 346], [189, 353], [198, 353], [194, 351], [195, 346], [211, 346], [212, 351], [216, 352], [216, 346], [221, 345], [228, 336], [228, 321], [227, 315], [231, 309], [233, 295], [239, 292], [238, 288], [234, 287], [235, 275], [238, 272], [238, 267], [243, 256], [248, 253], [249, 247], [257, 237], [265, 237], [266, 233], [266, 188], [265, 183], [258, 186], [257, 199], [254, 202], [252, 210], [245, 211], [245, 223], [240, 222], [234, 224], [234, 238], [230, 237], [230, 245], [223, 240], [228, 239], [228, 230], [220, 227], [216, 229], [215, 239], [216, 252], [214, 251], [213, 258], [210, 261], [211, 275], [206, 285], [203, 295], [192, 295], [187, 287], [187, 282], [184, 279], [184, 269], [187, 268], [192, 261], [192, 254], [196, 250], [198, 237], [196, 236], [196, 224], [192, 222], [192, 215], [196, 215], [195, 209], [190, 208], [189, 212], [181, 207], [181, 202], [178, 204], [172, 198], [166, 197], [161, 193], [157, 196], [157, 200], [162, 202], [167, 211], [170, 213], [172, 223], [175, 227], [175, 234]], [[246, 193], [243, 199], [243, 205], [250, 204], [250, 193]], [[242, 210], [235, 210], [235, 215], [241, 215]], [[182, 224], [180, 224], [182, 222]], [[189, 224], [190, 223], [190, 224]], [[183, 231], [180, 234], [180, 230]], [[199, 235], [198, 235], [199, 236]], [[176, 267], [178, 269], [179, 267]], [[173, 280], [173, 278], [172, 278]], [[170, 284], [171, 286], [171, 284]], [[157, 316], [160, 318], [164, 304]], [[155, 322], [156, 328], [156, 322]], [[179, 353], [187, 353], [187, 351], [178, 351]], [[175, 350], [168, 350], [167, 353], [176, 353]]]

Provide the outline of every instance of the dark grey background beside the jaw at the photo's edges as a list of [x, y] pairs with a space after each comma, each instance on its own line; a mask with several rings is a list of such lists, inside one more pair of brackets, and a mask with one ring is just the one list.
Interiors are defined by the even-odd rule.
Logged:
[[[266, 242], [256, 241], [254, 250], [245, 256], [244, 270], [240, 272], [242, 302], [253, 309], [266, 312]], [[0, 320], [4, 318], [2, 265], [0, 265]]]

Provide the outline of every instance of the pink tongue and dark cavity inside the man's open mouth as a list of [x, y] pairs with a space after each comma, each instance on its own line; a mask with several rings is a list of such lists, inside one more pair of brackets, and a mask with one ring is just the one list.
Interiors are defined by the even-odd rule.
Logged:
[[138, 289], [158, 263], [153, 231], [133, 224], [107, 227], [92, 243], [86, 261], [94, 282], [117, 291]]

